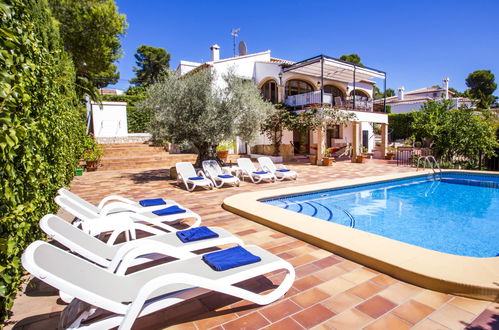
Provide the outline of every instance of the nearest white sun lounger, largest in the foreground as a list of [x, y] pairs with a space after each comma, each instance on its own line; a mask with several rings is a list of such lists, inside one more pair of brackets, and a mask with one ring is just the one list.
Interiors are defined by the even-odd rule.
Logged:
[[[247, 246], [246, 249], [262, 260], [214, 271], [197, 256], [124, 275], [128, 268], [126, 263], [122, 263], [114, 274], [51, 244], [35, 241], [24, 251], [22, 264], [38, 279], [77, 298], [62, 312], [60, 327], [110, 329], [119, 326], [123, 330], [130, 329], [141, 316], [210, 291], [259, 305], [282, 297], [293, 284], [293, 266], [259, 247]], [[280, 269], [287, 274], [270, 293], [258, 294], [233, 285]], [[72, 315], [78, 307], [86, 309]], [[92, 320], [101, 310], [114, 314]], [[81, 324], [85, 320], [88, 323]]]

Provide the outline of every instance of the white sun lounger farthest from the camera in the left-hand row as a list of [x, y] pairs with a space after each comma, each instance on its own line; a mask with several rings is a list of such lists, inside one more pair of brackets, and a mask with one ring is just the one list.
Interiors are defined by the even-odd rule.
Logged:
[[169, 207], [172, 205], [179, 205], [173, 200], [163, 199], [166, 204], [155, 205], [155, 206], [142, 206], [139, 203], [132, 201], [131, 199], [119, 195], [109, 195], [103, 198], [99, 202], [98, 206], [95, 206], [92, 203], [89, 203], [88, 201], [84, 200], [80, 196], [76, 195], [75, 193], [72, 193], [71, 191], [67, 190], [66, 188], [61, 188], [57, 192], [59, 193], [59, 195], [67, 197], [71, 199], [73, 202], [79, 204], [81, 207], [89, 209], [90, 211], [95, 213], [103, 212], [109, 214], [109, 213], [126, 212], [126, 211], [147, 212], [147, 211], [163, 209], [165, 207]]

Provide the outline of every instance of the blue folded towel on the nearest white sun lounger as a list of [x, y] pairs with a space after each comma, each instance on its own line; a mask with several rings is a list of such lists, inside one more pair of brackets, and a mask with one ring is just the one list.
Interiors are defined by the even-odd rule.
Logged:
[[261, 260], [260, 257], [251, 254], [251, 252], [240, 246], [203, 255], [203, 261], [218, 271], [252, 264]]

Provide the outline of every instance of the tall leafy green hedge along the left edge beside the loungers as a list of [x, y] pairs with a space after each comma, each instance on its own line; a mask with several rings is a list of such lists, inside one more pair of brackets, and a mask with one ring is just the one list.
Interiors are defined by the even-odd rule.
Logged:
[[57, 189], [74, 175], [84, 136], [74, 68], [46, 0], [0, 0], [0, 320], [25, 273], [23, 250], [43, 237]]

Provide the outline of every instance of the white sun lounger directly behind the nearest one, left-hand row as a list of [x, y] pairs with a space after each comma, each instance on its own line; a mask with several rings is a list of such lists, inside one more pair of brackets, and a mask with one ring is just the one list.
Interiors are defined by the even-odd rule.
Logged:
[[[175, 233], [165, 233], [149, 226], [138, 225], [146, 227], [145, 231], [152, 231], [152, 233], [156, 235], [112, 245], [114, 240], [112, 240], [111, 243], [108, 241], [106, 244], [72, 226], [56, 215], [47, 214], [40, 220], [40, 228], [48, 237], [61, 243], [72, 252], [77, 253], [100, 266], [107, 267], [111, 272], [116, 270], [120, 261], [125, 255], [131, 253], [132, 250], [135, 250], [132, 253], [137, 257], [132, 262], [132, 265], [139, 265], [157, 259], [158, 255], [173, 255], [178, 258], [190, 258], [196, 256], [196, 254], [191, 253], [191, 251], [225, 244], [244, 245], [241, 239], [219, 227], [210, 227], [212, 231], [218, 234], [217, 238], [183, 243]], [[127, 258], [130, 258], [130, 256]]]

